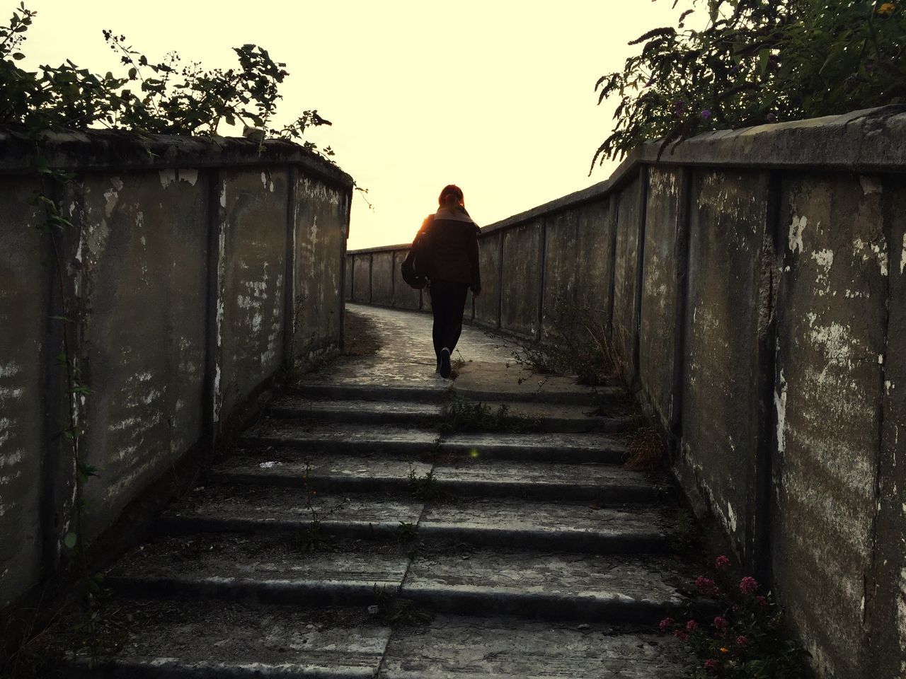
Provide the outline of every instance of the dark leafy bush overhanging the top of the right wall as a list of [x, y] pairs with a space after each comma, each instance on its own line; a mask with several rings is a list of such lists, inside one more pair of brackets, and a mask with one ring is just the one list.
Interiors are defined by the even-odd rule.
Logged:
[[[697, 6], [707, 8], [703, 30], [685, 24]], [[906, 103], [904, 9], [884, 0], [691, 0], [676, 27], [633, 40], [641, 52], [597, 81], [598, 103], [618, 103], [592, 167], [648, 139], [662, 139], [663, 151], [713, 129]]]

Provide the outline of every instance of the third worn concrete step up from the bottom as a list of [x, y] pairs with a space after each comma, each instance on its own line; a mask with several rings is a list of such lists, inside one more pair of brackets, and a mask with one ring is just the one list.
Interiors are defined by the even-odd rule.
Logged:
[[[330, 537], [606, 553], [666, 550], [673, 522], [652, 507], [592, 508], [588, 502], [468, 498], [421, 502], [410, 495], [319, 494], [313, 509], [294, 488], [215, 485], [197, 489], [162, 517], [163, 535], [200, 532], [299, 534], [314, 518]], [[404, 535], [404, 531], [410, 530]]]

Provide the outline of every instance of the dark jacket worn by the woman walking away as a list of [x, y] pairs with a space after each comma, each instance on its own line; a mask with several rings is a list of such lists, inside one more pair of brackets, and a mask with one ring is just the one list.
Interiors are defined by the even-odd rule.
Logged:
[[478, 271], [478, 226], [464, 207], [441, 207], [423, 225], [429, 253], [430, 279], [463, 282], [481, 290]]

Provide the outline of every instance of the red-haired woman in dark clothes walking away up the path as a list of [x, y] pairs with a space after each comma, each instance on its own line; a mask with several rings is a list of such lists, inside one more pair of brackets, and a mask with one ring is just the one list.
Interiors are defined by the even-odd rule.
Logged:
[[469, 288], [481, 293], [478, 273], [478, 227], [466, 212], [462, 189], [444, 186], [438, 211], [422, 226], [428, 253], [428, 290], [434, 314], [434, 352], [440, 377], [450, 376], [450, 354], [462, 332], [462, 313]]

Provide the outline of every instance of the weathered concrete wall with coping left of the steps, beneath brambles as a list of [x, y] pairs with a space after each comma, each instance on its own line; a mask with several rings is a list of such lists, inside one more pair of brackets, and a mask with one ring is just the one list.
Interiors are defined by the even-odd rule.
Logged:
[[[0, 133], [0, 609], [56, 568], [74, 530], [62, 312], [29, 201], [32, 150]], [[72, 301], [91, 539], [296, 359], [342, 342], [350, 177], [294, 144], [92, 132], [43, 154]]]

